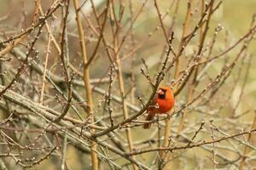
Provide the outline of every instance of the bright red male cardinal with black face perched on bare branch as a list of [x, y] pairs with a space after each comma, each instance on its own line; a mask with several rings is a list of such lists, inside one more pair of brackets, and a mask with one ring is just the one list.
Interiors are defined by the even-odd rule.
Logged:
[[[160, 87], [154, 97], [154, 101], [148, 107], [146, 121], [151, 121], [155, 114], [165, 114], [170, 111], [175, 103], [172, 89], [166, 86]], [[146, 122], [143, 128], [149, 128], [151, 122]]]

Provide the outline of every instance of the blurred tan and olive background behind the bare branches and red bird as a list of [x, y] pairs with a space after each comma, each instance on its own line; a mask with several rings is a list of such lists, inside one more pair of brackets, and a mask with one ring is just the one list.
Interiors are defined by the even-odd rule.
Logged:
[[[55, 1], [44, 0], [41, 1], [43, 11], [47, 11]], [[95, 8], [91, 8], [92, 3]], [[160, 26], [160, 17], [157, 13], [155, 3], [160, 10], [163, 26]], [[160, 71], [162, 62], [166, 57], [166, 49], [168, 44], [166, 42], [165, 34], [162, 31], [162, 27], [166, 29], [166, 32], [174, 32], [175, 39], [172, 42], [174, 51], [178, 51], [181, 44], [181, 37], [183, 35], [183, 23], [186, 18], [186, 12], [188, 3], [191, 4], [191, 13], [189, 19], [189, 26], [187, 27], [185, 35], [189, 35], [190, 31], [193, 31], [198, 21], [201, 19], [201, 3], [209, 3], [209, 1], [203, 0], [146, 0], [146, 1], [110, 1], [111, 10], [108, 10], [108, 19], [104, 28], [103, 36], [106, 43], [100, 42], [99, 48], [96, 50], [95, 58], [90, 63], [90, 79], [93, 88], [93, 102], [94, 111], [98, 120], [106, 123], [106, 127], [110, 126], [108, 110], [105, 108], [106, 104], [104, 100], [108, 94], [109, 88], [109, 72], [111, 68], [111, 61], [109, 55], [116, 59], [119, 55], [121, 72], [124, 78], [125, 101], [134, 106], [134, 109], [129, 107], [130, 116], [134, 115], [142, 108], [141, 102], [137, 99], [140, 96], [146, 103], [149, 98], [152, 88], [148, 83], [148, 80], [141, 74], [141, 68], [148, 70], [148, 74], [154, 80], [158, 71]], [[221, 1], [214, 1], [214, 5], [217, 5]], [[106, 1], [102, 0], [80, 0], [80, 16], [84, 26], [84, 38], [86, 42], [86, 53], [90, 59], [90, 56], [94, 55], [94, 50], [97, 46], [98, 38], [101, 33], [101, 26], [104, 22], [104, 10], [106, 8]], [[28, 0], [0, 0], [0, 37], [1, 42], [4, 39], [8, 39], [11, 36], [20, 33], [21, 29], [30, 27], [32, 24], [32, 15], [34, 13], [35, 3], [34, 1]], [[208, 59], [221, 54], [227, 48], [230, 48], [235, 44], [241, 37], [245, 36], [250, 32], [250, 26], [252, 25], [253, 14], [255, 13], [256, 1], [255, 0], [224, 0], [219, 4], [218, 8], [212, 14], [211, 21], [209, 24], [209, 30], [207, 32], [204, 47], [201, 54], [202, 59]], [[98, 14], [97, 20], [95, 11]], [[61, 44], [61, 32], [62, 32], [62, 18], [64, 14], [64, 8], [58, 9], [53, 17], [50, 17], [48, 24], [56, 39], [56, 42]], [[113, 17], [118, 17], [117, 19]], [[76, 14], [73, 7], [73, 1], [70, 1], [69, 14], [67, 17], [67, 47], [68, 47], [68, 62], [70, 73], [74, 72], [75, 81], [83, 84], [83, 62], [81, 58], [81, 49], [79, 45], [79, 34], [76, 23]], [[113, 20], [114, 18], [114, 20]], [[119, 19], [119, 29], [116, 26], [116, 20]], [[98, 24], [100, 22], [100, 24]], [[254, 25], [253, 25], [254, 26]], [[217, 33], [216, 33], [217, 32]], [[170, 34], [168, 33], [168, 36]], [[188, 68], [189, 62], [195, 57], [200, 44], [200, 31], [197, 31], [197, 35], [189, 41], [186, 45], [184, 53], [181, 55], [180, 65], [181, 70], [178, 75], [183, 75], [183, 72]], [[16, 47], [22, 53], [26, 53], [27, 45], [35, 36], [35, 32], [32, 32]], [[215, 37], [216, 36], [216, 37]], [[116, 39], [115, 39], [116, 38]], [[215, 39], [214, 47], [212, 40]], [[253, 38], [254, 39], [254, 38]], [[44, 59], [46, 54], [48, 42], [48, 34], [46, 29], [43, 29], [43, 33], [36, 44], [37, 50], [40, 52], [36, 62], [39, 65], [44, 65]], [[235, 48], [232, 48], [229, 53], [224, 54], [223, 57], [215, 59], [210, 65], [201, 69], [198, 73], [200, 81], [194, 87], [195, 93], [192, 97], [194, 99], [201, 91], [207, 87], [209, 82], [214, 81], [215, 77], [223, 70], [224, 65], [231, 63], [236, 56], [239, 55], [243, 42], [237, 44]], [[118, 54], [115, 45], [121, 44]], [[191, 139], [196, 130], [200, 127], [201, 122], [205, 122], [205, 126], [196, 137], [196, 142], [202, 140], [212, 139], [212, 124], [210, 120], [213, 120], [220, 130], [215, 129], [215, 139], [222, 138], [224, 136], [241, 133], [253, 128], [254, 110], [256, 102], [256, 68], [254, 64], [255, 59], [255, 41], [251, 41], [246, 52], [241, 55], [244, 56], [236, 62], [236, 65], [229, 76], [224, 78], [225, 81], [216, 84], [209, 90], [208, 94], [203, 95], [200, 99], [196, 100], [195, 103], [190, 105], [187, 110], [187, 115], [184, 118], [183, 128], [181, 132], [178, 131], [178, 127], [181, 123], [181, 115], [177, 114], [172, 116], [172, 133], [170, 138], [170, 146], [179, 146], [187, 144], [186, 138]], [[2, 47], [3, 48], [3, 47]], [[110, 51], [108, 54], [106, 48]], [[211, 55], [209, 49], [212, 50]], [[61, 59], [58, 57], [58, 50], [55, 48], [53, 43], [50, 45], [48, 69], [56, 77], [63, 79], [64, 74], [62, 71]], [[19, 58], [13, 57], [13, 54], [9, 53], [7, 56], [13, 59], [3, 64], [3, 71], [8, 72], [6, 75], [6, 82], [10, 82], [11, 77], [17, 71], [20, 65]], [[173, 56], [170, 56], [170, 61]], [[143, 60], [146, 64], [143, 64]], [[249, 68], [249, 69], [248, 69]], [[166, 77], [162, 84], [172, 85], [175, 82], [174, 67], [166, 73]], [[30, 80], [26, 80], [29, 77]], [[201, 76], [200, 76], [201, 75]], [[113, 98], [116, 96], [120, 99], [119, 82], [117, 74], [113, 73], [113, 87], [112, 93]], [[27, 75], [23, 74], [20, 81], [15, 85], [15, 92], [25, 96], [28, 99], [32, 99], [34, 102], [38, 102], [39, 95], [37, 90], [40, 91], [40, 84], [42, 82], [42, 76], [38, 75], [36, 71], [27, 70]], [[3, 83], [3, 82], [2, 82]], [[175, 111], [183, 108], [183, 105], [188, 104], [189, 88], [191, 82], [185, 82], [181, 93], [176, 96]], [[26, 85], [27, 84], [27, 85]], [[182, 84], [182, 82], [180, 82]], [[179, 85], [180, 85], [179, 84]], [[61, 86], [61, 83], [58, 84]], [[63, 85], [63, 84], [62, 84]], [[22, 87], [22, 88], [20, 88]], [[77, 93], [86, 100], [84, 94], [84, 88], [79, 86], [78, 83], [73, 85]], [[33, 89], [34, 88], [34, 89]], [[35, 90], [36, 89], [36, 90]], [[102, 90], [102, 91], [101, 91]], [[214, 90], [216, 92], [214, 92]], [[55, 98], [54, 88], [51, 88], [49, 82], [46, 82], [46, 90], [44, 96], [44, 105], [49, 106], [55, 111], [63, 111], [65, 100], [59, 97]], [[63, 90], [67, 93], [67, 90]], [[215, 94], [216, 93], [216, 94]], [[114, 99], [113, 99], [114, 100]], [[191, 100], [191, 99], [190, 99]], [[112, 102], [114, 122], [121, 122], [124, 120], [122, 105], [118, 101]], [[127, 105], [128, 105], [127, 104]], [[16, 105], [11, 104], [13, 110]], [[86, 117], [83, 111], [83, 106], [78, 103], [73, 104], [78, 109], [83, 117]], [[6, 119], [8, 115], [2, 115], [2, 120]], [[69, 116], [77, 118], [73, 111], [68, 112]], [[160, 116], [160, 119], [162, 116]], [[85, 119], [85, 118], [84, 118]], [[19, 119], [18, 119], [19, 120]], [[143, 121], [144, 116], [140, 116], [138, 121]], [[24, 121], [24, 120], [23, 120]], [[34, 128], [36, 126], [30, 125], [30, 122], [17, 122], [15, 126]], [[255, 122], [256, 123], [256, 122]], [[163, 140], [165, 121], [161, 120], [159, 123], [154, 123], [153, 127], [149, 130], [143, 129], [141, 126], [136, 126], [139, 122], [131, 123], [131, 132], [133, 137], [134, 150], [144, 150], [148, 148], [158, 147]], [[133, 126], [134, 125], [134, 126]], [[126, 127], [127, 128], [127, 127]], [[222, 133], [221, 133], [222, 132]], [[11, 132], [9, 132], [11, 133]], [[15, 134], [14, 134], [15, 135]], [[20, 132], [20, 136], [25, 133]], [[20, 143], [23, 144], [25, 141], [32, 143], [32, 139], [38, 134], [26, 133], [27, 139]], [[119, 139], [124, 145], [125, 149], [128, 150], [127, 140], [125, 136], [125, 127], [120, 128], [114, 138]], [[187, 150], [173, 151], [165, 162], [165, 166], [162, 169], [238, 169], [241, 167], [241, 161], [244, 153], [247, 154], [247, 161], [245, 166], [241, 169], [253, 169], [255, 164], [255, 142], [252, 133], [252, 137], [247, 135], [239, 136], [237, 139], [229, 139], [217, 143], [215, 146], [212, 144], [204, 145], [204, 147], [198, 147]], [[178, 138], [181, 136], [182, 138]], [[3, 138], [0, 137], [0, 140]], [[102, 140], [107, 140], [107, 137], [102, 137]], [[40, 144], [50, 145], [45, 142], [47, 139], [40, 139]], [[54, 134], [49, 133], [49, 140], [51, 143], [56, 143]], [[26, 143], [25, 142], [25, 143]], [[71, 142], [72, 143], [72, 142]], [[241, 144], [247, 143], [247, 144]], [[109, 144], [112, 144], [109, 142]], [[250, 147], [249, 147], [249, 146]], [[216, 150], [215, 155], [217, 163], [213, 162], [212, 166], [212, 147]], [[246, 149], [249, 148], [249, 149]], [[2, 150], [2, 151], [1, 151]], [[4, 144], [0, 144], [0, 152], [5, 152], [6, 147]], [[104, 148], [100, 150], [102, 151]], [[247, 151], [245, 151], [247, 150]], [[15, 150], [17, 151], [17, 150]], [[106, 151], [106, 150], [105, 150]], [[19, 152], [19, 151], [18, 151]], [[108, 152], [108, 151], [107, 151]], [[108, 155], [108, 154], [107, 154]], [[125, 160], [124, 157], [109, 153], [111, 160], [119, 165], [122, 169], [132, 169], [131, 163]], [[27, 157], [40, 157], [44, 156], [44, 153], [27, 153], [24, 156]], [[151, 169], [159, 168], [157, 166], [159, 154], [157, 151], [145, 153], [137, 156], [137, 161], [143, 162]], [[24, 157], [23, 157], [24, 158]], [[21, 158], [21, 159], [23, 159]], [[18, 164], [15, 164], [15, 160], [11, 157], [3, 158], [5, 164], [9, 169], [23, 169]], [[67, 169], [91, 169], [90, 165], [90, 154], [84, 153], [78, 148], [74, 147], [73, 144], [67, 144], [67, 156], [66, 156]], [[26, 164], [26, 163], [25, 163]], [[214, 167], [215, 165], [215, 167]], [[115, 169], [116, 167], [108, 166], [108, 161], [101, 161], [100, 169]], [[32, 166], [32, 169], [61, 169], [61, 158], [56, 153], [53, 156], [49, 156], [49, 159], [45, 159], [40, 164]]]

